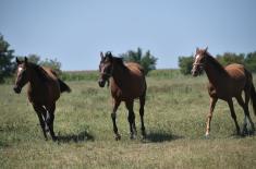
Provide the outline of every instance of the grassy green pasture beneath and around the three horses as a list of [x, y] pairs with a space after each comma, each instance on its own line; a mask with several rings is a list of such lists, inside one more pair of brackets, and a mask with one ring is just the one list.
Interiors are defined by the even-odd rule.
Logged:
[[[57, 143], [44, 140], [25, 88], [15, 95], [12, 85], [0, 85], [0, 168], [256, 168], [256, 136], [234, 135], [224, 101], [218, 101], [210, 137], [204, 137], [209, 109], [206, 76], [175, 71], [148, 75], [145, 141], [139, 132], [129, 138], [123, 105], [118, 110], [122, 138], [114, 141], [109, 88], [99, 88], [95, 80], [66, 83], [73, 92], [57, 104]], [[243, 111], [234, 102], [242, 125]], [[135, 113], [139, 129], [138, 101]], [[251, 114], [256, 122], [252, 108]]]

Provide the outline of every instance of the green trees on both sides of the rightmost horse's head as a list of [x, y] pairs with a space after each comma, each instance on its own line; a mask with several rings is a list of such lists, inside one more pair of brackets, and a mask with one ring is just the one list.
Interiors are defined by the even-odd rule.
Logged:
[[[251, 72], [256, 72], [256, 51], [248, 53], [234, 53], [224, 52], [223, 55], [217, 55], [216, 59], [223, 65], [230, 63], [243, 64]], [[179, 67], [182, 74], [191, 74], [192, 64], [194, 62], [194, 57], [179, 57]]]

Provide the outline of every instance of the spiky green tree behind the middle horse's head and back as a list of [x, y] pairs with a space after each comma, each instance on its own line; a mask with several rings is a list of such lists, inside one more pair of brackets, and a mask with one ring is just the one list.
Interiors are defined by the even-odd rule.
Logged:
[[139, 63], [143, 68], [145, 73], [147, 74], [149, 71], [156, 69], [157, 64], [157, 58], [155, 58], [149, 50], [146, 51], [145, 55], [143, 55], [143, 51], [141, 48], [137, 48], [137, 51], [129, 50], [126, 53], [120, 55], [121, 58], [124, 59], [124, 61], [131, 61]]

